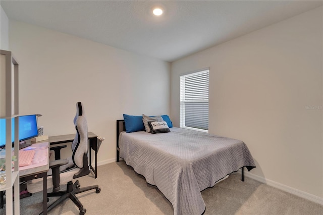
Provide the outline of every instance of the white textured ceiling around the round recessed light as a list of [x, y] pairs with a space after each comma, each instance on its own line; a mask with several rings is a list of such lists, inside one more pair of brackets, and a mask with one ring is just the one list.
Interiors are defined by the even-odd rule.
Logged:
[[[10, 20], [172, 62], [322, 1], [0, 1]], [[151, 9], [161, 6], [160, 17]]]

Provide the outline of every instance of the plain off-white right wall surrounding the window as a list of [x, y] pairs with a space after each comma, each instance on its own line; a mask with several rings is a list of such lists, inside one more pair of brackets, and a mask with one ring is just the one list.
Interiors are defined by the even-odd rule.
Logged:
[[179, 76], [210, 67], [209, 133], [243, 140], [251, 173], [323, 197], [322, 7], [171, 65], [171, 118]]

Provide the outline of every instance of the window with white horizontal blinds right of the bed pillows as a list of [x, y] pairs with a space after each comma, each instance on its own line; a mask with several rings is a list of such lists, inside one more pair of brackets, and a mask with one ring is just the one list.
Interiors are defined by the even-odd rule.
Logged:
[[208, 69], [182, 75], [180, 127], [208, 132]]

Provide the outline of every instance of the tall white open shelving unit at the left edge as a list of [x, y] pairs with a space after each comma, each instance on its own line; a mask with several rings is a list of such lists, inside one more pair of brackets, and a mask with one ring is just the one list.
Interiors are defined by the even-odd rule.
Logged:
[[[0, 118], [6, 119], [6, 184], [0, 191], [6, 191], [6, 214], [20, 214], [19, 211], [19, 86], [18, 62], [11, 51], [0, 50]], [[12, 165], [12, 119], [15, 122], [15, 150], [17, 161]], [[9, 149], [9, 150], [8, 150]], [[13, 187], [16, 200], [13, 204]]]

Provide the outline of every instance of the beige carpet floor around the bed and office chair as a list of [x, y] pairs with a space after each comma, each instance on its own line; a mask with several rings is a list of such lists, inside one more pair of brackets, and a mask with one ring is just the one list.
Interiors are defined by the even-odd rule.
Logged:
[[[173, 214], [172, 204], [164, 195], [123, 161], [99, 166], [97, 179], [89, 175], [79, 181], [81, 187], [98, 184], [101, 188], [99, 194], [92, 190], [77, 195], [86, 214]], [[202, 196], [204, 214], [323, 214], [322, 205], [250, 178], [242, 182], [239, 174], [202, 191]], [[41, 211], [42, 192], [20, 200], [20, 214]], [[5, 213], [5, 208], [0, 210], [0, 214]], [[48, 214], [79, 214], [79, 210], [67, 200]]]

